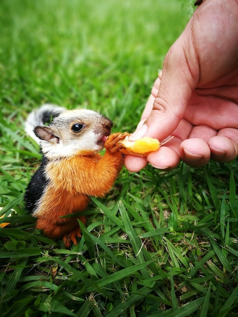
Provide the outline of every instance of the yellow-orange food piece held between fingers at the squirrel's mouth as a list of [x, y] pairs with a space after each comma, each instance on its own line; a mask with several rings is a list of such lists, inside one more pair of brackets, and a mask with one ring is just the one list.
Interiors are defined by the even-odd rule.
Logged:
[[121, 151], [124, 154], [138, 156], [147, 156], [150, 152], [157, 151], [157, 149], [160, 147], [160, 141], [149, 137], [144, 137], [136, 141], [130, 141], [127, 136], [124, 140], [120, 141], [120, 144], [123, 145]]

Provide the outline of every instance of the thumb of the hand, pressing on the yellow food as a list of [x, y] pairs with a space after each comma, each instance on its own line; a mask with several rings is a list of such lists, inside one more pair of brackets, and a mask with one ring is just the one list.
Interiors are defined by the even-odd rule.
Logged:
[[[192, 46], [188, 43], [184, 48], [185, 35], [182, 33], [166, 55], [160, 87], [150, 114], [143, 125], [138, 125], [130, 140], [149, 136], [162, 141], [173, 133], [182, 120], [199, 80], [199, 65]], [[149, 111], [147, 109], [144, 113]]]

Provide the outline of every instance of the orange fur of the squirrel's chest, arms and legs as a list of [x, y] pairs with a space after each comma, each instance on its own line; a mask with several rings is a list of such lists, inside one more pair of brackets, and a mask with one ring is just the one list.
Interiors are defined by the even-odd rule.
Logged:
[[126, 135], [110, 135], [105, 142], [106, 152], [103, 156], [98, 153], [87, 156], [77, 153], [48, 163], [46, 175], [49, 184], [34, 212], [38, 229], [42, 229], [51, 239], [63, 237], [67, 248], [71, 242], [77, 244], [77, 237], [81, 237], [77, 219], [85, 223], [86, 218], [60, 217], [85, 210], [90, 195], [104, 196], [110, 190], [123, 166], [121, 145], [117, 142]]

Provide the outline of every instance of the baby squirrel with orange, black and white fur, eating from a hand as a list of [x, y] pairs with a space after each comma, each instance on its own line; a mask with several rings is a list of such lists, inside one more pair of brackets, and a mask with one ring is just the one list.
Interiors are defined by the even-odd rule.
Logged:
[[[66, 248], [77, 244], [77, 219], [85, 224], [86, 218], [61, 217], [85, 210], [90, 196], [104, 196], [122, 169], [117, 142], [128, 134], [110, 134], [111, 128], [112, 122], [95, 111], [49, 104], [27, 118], [25, 130], [41, 145], [43, 159], [26, 189], [26, 208], [37, 218], [36, 228], [51, 239], [63, 238]], [[99, 154], [104, 147], [105, 154]]]

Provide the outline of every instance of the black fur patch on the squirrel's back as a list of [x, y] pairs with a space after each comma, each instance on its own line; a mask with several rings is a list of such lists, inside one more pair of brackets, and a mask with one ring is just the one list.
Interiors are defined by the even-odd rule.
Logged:
[[24, 200], [27, 210], [32, 213], [37, 207], [37, 202], [44, 193], [44, 189], [47, 187], [49, 180], [45, 176], [45, 167], [48, 163], [48, 159], [43, 156], [39, 169], [31, 177], [31, 180], [26, 188]]

